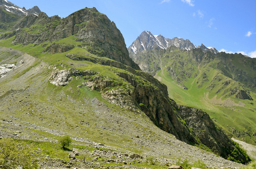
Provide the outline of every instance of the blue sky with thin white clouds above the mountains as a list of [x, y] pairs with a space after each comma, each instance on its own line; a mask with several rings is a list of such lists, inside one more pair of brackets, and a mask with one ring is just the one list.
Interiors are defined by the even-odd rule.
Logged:
[[255, 0], [12, 0], [19, 7], [38, 6], [48, 16], [66, 17], [96, 7], [114, 21], [128, 46], [144, 30], [194, 45], [256, 57]]

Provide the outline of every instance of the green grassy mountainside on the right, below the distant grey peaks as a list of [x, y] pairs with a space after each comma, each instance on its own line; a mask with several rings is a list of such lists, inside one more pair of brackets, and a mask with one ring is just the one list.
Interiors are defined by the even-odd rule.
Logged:
[[230, 135], [255, 144], [255, 59], [174, 46], [142, 51], [136, 59], [177, 103], [205, 110]]

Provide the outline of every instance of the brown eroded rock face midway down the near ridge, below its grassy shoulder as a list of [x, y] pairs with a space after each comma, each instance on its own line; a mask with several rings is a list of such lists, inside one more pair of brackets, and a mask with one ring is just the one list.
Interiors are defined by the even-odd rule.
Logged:
[[94, 75], [83, 85], [100, 91], [102, 97], [112, 104], [132, 111], [142, 110], [159, 128], [175, 135], [177, 139], [197, 143], [188, 126], [181, 123], [176, 113], [177, 105], [169, 99], [167, 87], [149, 74], [137, 73], [119, 72], [119, 77], [127, 82], [123, 87], [122, 83], [102, 75]]

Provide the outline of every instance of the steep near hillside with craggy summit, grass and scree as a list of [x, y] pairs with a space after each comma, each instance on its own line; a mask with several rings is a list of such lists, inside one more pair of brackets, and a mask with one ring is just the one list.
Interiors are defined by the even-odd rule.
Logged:
[[[84, 8], [64, 19], [43, 12], [23, 16], [12, 30], [0, 37], [3, 137], [16, 138], [14, 131], [21, 130], [22, 139], [54, 142], [67, 134], [80, 144], [102, 142], [124, 152], [132, 148], [170, 157], [167, 152], [173, 146], [164, 150], [165, 146], [181, 143], [174, 135], [233, 161], [250, 160], [210, 118], [195, 114], [198, 123], [210, 123], [205, 129], [218, 132], [225, 144], [209, 132], [205, 132], [209, 139], [200, 140], [196, 128], [181, 117], [189, 108], [179, 108], [164, 84], [140, 70], [129, 58], [120, 31], [96, 8]], [[164, 144], [156, 146], [156, 140]], [[185, 143], [181, 144], [186, 149], [192, 148]], [[185, 156], [194, 161], [200, 155]]]

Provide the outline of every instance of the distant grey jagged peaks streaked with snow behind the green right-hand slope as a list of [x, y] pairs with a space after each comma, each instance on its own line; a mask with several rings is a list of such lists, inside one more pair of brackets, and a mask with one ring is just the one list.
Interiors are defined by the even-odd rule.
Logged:
[[[140, 36], [128, 47], [129, 54], [132, 56], [137, 54], [137, 52], [151, 50], [154, 47], [167, 49], [168, 47], [175, 46], [183, 50], [192, 50], [197, 48], [188, 39], [184, 40], [182, 38], [164, 38], [163, 35], [153, 35], [149, 31], [144, 31]], [[203, 51], [211, 51], [216, 54], [218, 51], [214, 47], [205, 47], [204, 45], [198, 46], [202, 48]]]

